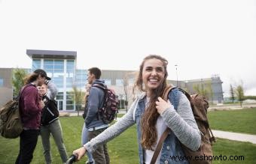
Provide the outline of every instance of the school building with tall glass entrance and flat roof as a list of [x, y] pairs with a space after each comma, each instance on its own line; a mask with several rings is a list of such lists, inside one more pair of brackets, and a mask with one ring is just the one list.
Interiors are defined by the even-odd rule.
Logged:
[[[77, 52], [75, 51], [53, 51], [27, 49], [26, 55], [32, 59], [29, 73], [41, 68], [47, 72], [56, 87], [58, 94], [56, 102], [60, 111], [74, 111], [75, 103], [72, 100], [72, 87], [75, 86], [82, 91], [87, 83], [87, 70], [79, 70], [76, 67]], [[98, 66], [97, 66], [98, 67]], [[100, 68], [100, 66], [99, 66]], [[13, 86], [11, 78], [14, 68], [0, 68], [0, 106], [3, 106], [13, 97]], [[134, 70], [102, 70], [102, 78], [109, 88], [113, 88], [120, 100], [120, 107], [129, 107], [133, 101], [133, 84], [136, 80], [137, 71]], [[194, 94], [194, 86], [211, 88], [212, 103], [223, 103], [222, 82], [219, 76], [212, 76], [206, 79], [194, 79], [187, 81], [168, 80], [168, 83], [185, 88], [190, 94]], [[125, 100], [128, 104], [125, 104]]]

